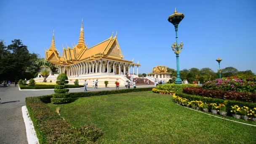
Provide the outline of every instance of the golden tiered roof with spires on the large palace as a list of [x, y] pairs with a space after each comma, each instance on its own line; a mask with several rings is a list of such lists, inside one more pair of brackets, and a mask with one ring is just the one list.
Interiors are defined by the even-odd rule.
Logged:
[[[54, 51], [52, 51], [52, 49], [54, 49]], [[83, 19], [77, 45], [73, 46], [73, 48], [69, 48], [68, 46], [67, 48], [63, 47], [62, 56], [59, 56], [54, 45], [53, 37], [51, 47], [48, 51], [45, 51], [45, 59], [53, 62], [54, 64], [74, 64], [80, 61], [94, 59], [109, 59], [134, 64], [133, 61], [127, 61], [123, 58], [124, 56], [117, 41], [117, 33], [115, 37], [113, 37], [112, 34], [107, 40], [88, 48], [84, 41]], [[139, 63], [134, 65], [140, 66]]]

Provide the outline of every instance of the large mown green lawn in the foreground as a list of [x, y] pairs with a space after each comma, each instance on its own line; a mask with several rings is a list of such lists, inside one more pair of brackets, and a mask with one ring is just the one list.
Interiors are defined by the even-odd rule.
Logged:
[[255, 143], [256, 127], [222, 120], [152, 91], [79, 98], [48, 104], [75, 127], [94, 123], [102, 143]]

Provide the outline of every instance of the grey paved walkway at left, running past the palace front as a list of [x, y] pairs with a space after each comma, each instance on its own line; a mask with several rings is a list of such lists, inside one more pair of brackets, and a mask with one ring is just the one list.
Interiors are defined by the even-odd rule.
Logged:
[[[152, 85], [137, 86], [152, 87]], [[125, 87], [120, 87], [124, 89]], [[132, 88], [132, 87], [131, 87]], [[88, 87], [88, 91], [114, 90], [115, 88]], [[69, 92], [82, 92], [83, 88], [70, 89]], [[26, 105], [25, 98], [43, 96], [54, 93], [53, 90], [44, 91], [19, 91], [14, 85], [0, 87], [0, 144], [27, 144], [26, 129], [21, 113], [21, 107]]]

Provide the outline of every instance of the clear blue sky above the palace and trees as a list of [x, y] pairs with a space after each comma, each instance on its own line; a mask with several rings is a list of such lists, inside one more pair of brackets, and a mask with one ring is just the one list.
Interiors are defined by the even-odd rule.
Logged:
[[180, 69], [235, 67], [256, 73], [255, 0], [1, 0], [0, 40], [6, 45], [21, 39], [30, 52], [44, 57], [51, 45], [77, 44], [81, 19], [85, 43], [91, 47], [106, 40], [112, 31], [124, 59], [141, 64], [139, 73], [156, 65], [176, 69], [171, 50], [175, 31], [168, 16], [174, 8], [184, 13], [179, 24]]

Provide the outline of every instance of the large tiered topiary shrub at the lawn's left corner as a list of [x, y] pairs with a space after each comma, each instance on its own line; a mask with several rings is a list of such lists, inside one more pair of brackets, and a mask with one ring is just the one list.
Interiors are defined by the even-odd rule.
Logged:
[[54, 87], [56, 89], [54, 89], [53, 93], [53, 97], [51, 98], [51, 103], [53, 104], [64, 104], [64, 103], [69, 103], [71, 101], [70, 98], [70, 93], [69, 89], [65, 89], [67, 88], [67, 83], [69, 83], [69, 81], [67, 81], [67, 75], [64, 73], [61, 73], [58, 77], [57, 77], [57, 85], [55, 85]]

